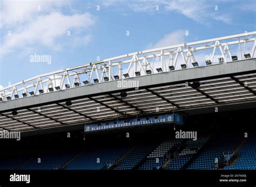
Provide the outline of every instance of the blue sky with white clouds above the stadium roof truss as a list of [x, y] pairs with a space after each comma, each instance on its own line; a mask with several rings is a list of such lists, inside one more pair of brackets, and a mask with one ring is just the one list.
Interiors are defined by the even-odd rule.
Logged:
[[[1, 1], [0, 87], [97, 56], [256, 31], [255, 10], [253, 0]], [[51, 64], [31, 63], [35, 53]]]

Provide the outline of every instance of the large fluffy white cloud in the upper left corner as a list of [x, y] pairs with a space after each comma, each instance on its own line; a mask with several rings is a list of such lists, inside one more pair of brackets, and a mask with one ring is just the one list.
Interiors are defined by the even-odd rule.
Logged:
[[[68, 4], [66, 1], [4, 1], [3, 4], [2, 28], [6, 31], [10, 29], [11, 36], [6, 34], [1, 39], [1, 57], [17, 48], [21, 49], [21, 55], [26, 54], [29, 49], [39, 45], [58, 51], [65, 43], [65, 40], [60, 42], [60, 38], [68, 37], [68, 31], [71, 32], [71, 40], [66, 41], [77, 45], [87, 44], [91, 37], [87, 31], [96, 22], [91, 13], [64, 15], [60, 8]], [[38, 12], [38, 5], [42, 12]], [[14, 14], [10, 15], [10, 12]]]

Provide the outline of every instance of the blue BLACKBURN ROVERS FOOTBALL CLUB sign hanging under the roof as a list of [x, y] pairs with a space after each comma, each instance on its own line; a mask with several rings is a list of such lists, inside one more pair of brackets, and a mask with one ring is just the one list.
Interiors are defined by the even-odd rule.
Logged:
[[[92, 132], [92, 131], [102, 131], [102, 130], [111, 130], [117, 128], [124, 127], [134, 127], [134, 126], [146, 126], [146, 125], [154, 125], [154, 124], [167, 124], [173, 123], [173, 114], [165, 114], [160, 115], [158, 117], [142, 117], [142, 118], [133, 118], [129, 120], [117, 120], [117, 121], [109, 121], [99, 124], [90, 124], [84, 125], [84, 132]], [[174, 114], [174, 123], [182, 125], [183, 117]]]

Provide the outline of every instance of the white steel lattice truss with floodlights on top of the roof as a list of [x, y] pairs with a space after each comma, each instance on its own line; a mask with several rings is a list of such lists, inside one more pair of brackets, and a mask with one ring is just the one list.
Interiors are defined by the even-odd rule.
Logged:
[[[212, 49], [209, 59], [212, 64], [214, 64], [214, 56], [217, 52], [220, 53], [219, 56], [223, 57], [224, 63], [232, 61], [232, 55], [237, 55], [240, 60], [245, 59], [244, 54], [246, 54], [246, 51], [250, 53], [253, 58], [255, 57], [256, 46], [255, 35], [256, 31], [246, 32], [227, 37], [149, 49], [38, 75], [0, 89], [0, 99], [2, 98], [3, 101], [7, 101], [8, 99], [6, 99], [6, 97], [11, 97], [12, 99], [14, 95], [18, 95], [19, 93], [26, 93], [26, 95], [29, 96], [29, 92], [31, 91], [37, 95], [39, 94], [38, 90], [43, 90], [43, 93], [47, 93], [50, 92], [49, 88], [53, 89], [51, 89], [51, 91], [74, 88], [77, 86], [75, 83], [79, 83], [78, 85], [82, 84], [80, 81], [80, 79], [82, 79], [81, 76], [83, 76], [82, 82], [88, 81], [88, 83], [91, 84], [92, 81], [95, 80], [97, 80], [95, 83], [100, 83], [113, 81], [117, 78], [122, 79], [124, 78], [123, 74], [129, 74], [129, 77], [133, 77], [136, 76], [135, 73], [137, 71], [139, 71], [141, 75], [147, 75], [146, 70], [151, 70], [151, 74], [154, 74], [157, 73], [154, 66], [161, 68], [162, 72], [166, 72], [169, 71], [170, 66], [173, 66], [174, 69], [178, 69], [177, 62], [179, 59], [181, 63], [186, 64], [186, 68], [190, 68], [190, 63], [197, 62], [197, 56], [194, 55], [194, 53], [209, 49]], [[246, 44], [248, 43], [252, 44], [251, 49], [246, 49]], [[242, 44], [244, 45], [243, 51], [241, 48]], [[239, 54], [232, 54], [231, 46], [232, 48], [234, 48], [234, 46], [239, 48]], [[233, 51], [235, 50], [233, 49]], [[114, 78], [116, 75], [118, 75], [118, 77]], [[104, 77], [107, 77], [106, 80]], [[66, 87], [66, 85], [69, 85], [69, 87]]]

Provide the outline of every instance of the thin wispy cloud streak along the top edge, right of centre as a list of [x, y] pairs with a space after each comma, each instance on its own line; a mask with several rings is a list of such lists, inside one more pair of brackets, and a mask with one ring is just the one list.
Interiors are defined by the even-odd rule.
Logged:
[[[215, 11], [216, 2], [206, 0], [138, 0], [136, 2], [127, 3], [125, 1], [106, 0], [103, 6], [112, 7], [115, 11], [122, 12], [147, 12], [156, 13], [156, 6], [159, 11], [176, 12], [181, 15], [197, 21], [201, 24], [208, 25], [211, 20], [223, 21], [231, 24], [231, 16], [223, 15], [219, 11]], [[218, 13], [218, 15], [216, 15]]]

